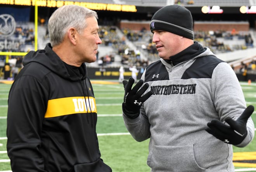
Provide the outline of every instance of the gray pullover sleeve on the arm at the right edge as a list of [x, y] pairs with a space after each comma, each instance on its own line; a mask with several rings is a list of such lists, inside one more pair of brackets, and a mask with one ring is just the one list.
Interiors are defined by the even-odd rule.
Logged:
[[[245, 110], [246, 101], [240, 83], [233, 69], [225, 62], [216, 66], [212, 75], [213, 103], [220, 120], [230, 117], [236, 120]], [[237, 147], [245, 147], [254, 137], [254, 123], [251, 117], [247, 121], [247, 136]]]

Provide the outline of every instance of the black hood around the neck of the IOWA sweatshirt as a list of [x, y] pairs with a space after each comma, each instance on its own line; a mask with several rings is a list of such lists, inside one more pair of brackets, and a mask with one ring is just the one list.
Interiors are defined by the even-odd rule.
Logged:
[[24, 56], [22, 61], [23, 66], [26, 66], [31, 62], [40, 63], [50, 69], [53, 73], [67, 80], [78, 81], [86, 78], [87, 71], [85, 63], [79, 67], [81, 75], [74, 74], [73, 70], [70, 69], [70, 67], [68, 67], [54, 51], [52, 51], [50, 43], [45, 46], [45, 49], [30, 51]]

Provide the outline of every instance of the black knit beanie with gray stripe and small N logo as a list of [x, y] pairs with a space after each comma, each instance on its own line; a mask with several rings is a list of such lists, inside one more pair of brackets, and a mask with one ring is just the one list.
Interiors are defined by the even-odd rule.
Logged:
[[194, 39], [192, 15], [181, 5], [168, 5], [159, 9], [151, 19], [150, 30], [164, 30]]

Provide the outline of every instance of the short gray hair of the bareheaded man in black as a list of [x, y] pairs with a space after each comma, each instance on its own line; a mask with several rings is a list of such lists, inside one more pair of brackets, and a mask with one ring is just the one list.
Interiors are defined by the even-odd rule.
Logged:
[[48, 21], [51, 45], [60, 44], [70, 27], [74, 27], [81, 34], [82, 30], [87, 26], [86, 19], [88, 17], [98, 19], [95, 11], [78, 5], [64, 5], [55, 10]]

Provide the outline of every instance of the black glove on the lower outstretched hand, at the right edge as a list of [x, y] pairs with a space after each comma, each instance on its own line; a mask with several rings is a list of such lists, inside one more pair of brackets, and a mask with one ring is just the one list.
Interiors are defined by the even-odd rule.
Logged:
[[236, 121], [228, 117], [225, 121], [229, 126], [214, 119], [207, 123], [209, 128], [206, 131], [225, 143], [238, 145], [247, 135], [246, 123], [253, 111], [254, 106], [250, 105]]

